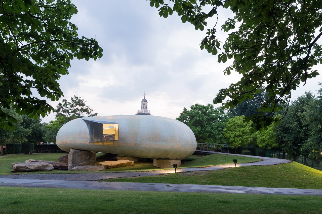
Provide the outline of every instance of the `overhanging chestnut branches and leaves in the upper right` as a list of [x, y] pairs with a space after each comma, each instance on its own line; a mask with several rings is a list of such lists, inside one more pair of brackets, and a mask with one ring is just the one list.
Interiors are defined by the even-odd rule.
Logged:
[[207, 20], [220, 19], [221, 8], [234, 14], [219, 27], [227, 32], [227, 39], [220, 41], [216, 36], [218, 26], [210, 26], [200, 48], [218, 55], [218, 62], [232, 59], [225, 75], [232, 71], [242, 75], [240, 81], [221, 89], [213, 103], [232, 109], [264, 87], [267, 95], [258, 113], [245, 117], [252, 120], [255, 130], [277, 120], [273, 115], [289, 103], [291, 90], [318, 75], [311, 68], [322, 63], [318, 43], [322, 35], [321, 0], [149, 1], [160, 8], [160, 16], [166, 18], [176, 12], [182, 22], [190, 22], [201, 31]]

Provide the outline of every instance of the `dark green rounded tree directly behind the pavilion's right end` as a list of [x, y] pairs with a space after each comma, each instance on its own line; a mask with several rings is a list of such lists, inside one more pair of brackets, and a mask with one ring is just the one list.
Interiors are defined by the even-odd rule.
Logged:
[[222, 108], [213, 108], [212, 104], [194, 104], [190, 110], [184, 108], [175, 118], [185, 123], [194, 132], [197, 143], [226, 144], [223, 136], [224, 123], [228, 120]]

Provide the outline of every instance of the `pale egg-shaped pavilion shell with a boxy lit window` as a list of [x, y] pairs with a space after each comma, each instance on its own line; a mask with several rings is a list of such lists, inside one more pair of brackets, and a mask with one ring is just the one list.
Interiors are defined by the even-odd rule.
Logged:
[[[108, 137], [105, 138], [106, 136]], [[189, 157], [197, 146], [194, 133], [187, 125], [178, 120], [151, 115], [116, 115], [71, 120], [58, 131], [56, 143], [64, 151], [73, 148], [169, 159]]]

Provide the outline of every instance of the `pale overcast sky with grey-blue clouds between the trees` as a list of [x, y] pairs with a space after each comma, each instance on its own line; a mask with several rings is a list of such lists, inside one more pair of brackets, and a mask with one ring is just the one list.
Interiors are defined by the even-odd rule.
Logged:
[[[71, 19], [79, 28], [79, 36], [96, 35], [103, 57], [97, 61], [72, 60], [69, 74], [59, 83], [63, 98], [78, 95], [99, 116], [136, 114], [146, 93], [152, 115], [174, 119], [184, 107], [212, 103], [220, 89], [240, 79], [234, 72], [223, 75], [231, 62], [218, 63], [217, 56], [199, 48], [206, 30], [195, 31], [175, 13], [166, 19], [159, 17], [157, 9], [145, 0], [72, 3], [79, 11]], [[223, 11], [219, 15], [218, 31], [231, 14]], [[225, 41], [227, 35], [219, 32], [218, 37]], [[322, 82], [322, 75], [309, 79], [292, 92], [292, 97], [305, 91], [315, 93], [318, 82]], [[58, 104], [48, 103], [54, 108]], [[42, 121], [54, 119], [55, 113], [51, 113]]]

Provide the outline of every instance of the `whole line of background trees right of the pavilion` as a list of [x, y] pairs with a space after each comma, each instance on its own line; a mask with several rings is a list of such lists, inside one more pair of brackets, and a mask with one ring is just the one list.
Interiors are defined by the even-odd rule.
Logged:
[[[322, 86], [322, 83], [319, 83]], [[184, 108], [176, 118], [189, 126], [197, 143], [228, 144], [230, 148], [260, 147], [279, 151], [289, 158], [304, 156], [320, 158], [322, 152], [322, 88], [315, 97], [311, 92], [298, 96], [283, 110], [275, 113], [276, 122], [265, 129], [254, 131], [253, 123], [245, 120], [257, 114], [258, 106], [266, 102], [264, 90], [235, 108], [224, 111], [212, 104], [195, 104]], [[263, 115], [270, 113], [262, 112]], [[285, 115], [282, 117], [281, 115]]]

